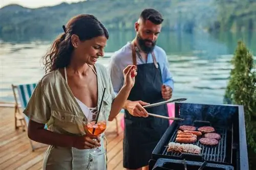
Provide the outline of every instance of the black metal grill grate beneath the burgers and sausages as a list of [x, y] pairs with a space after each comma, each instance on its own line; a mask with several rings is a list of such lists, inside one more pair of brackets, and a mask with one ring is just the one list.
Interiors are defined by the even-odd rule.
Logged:
[[[177, 132], [178, 132], [178, 128], [179, 128], [179, 126], [177, 127], [177, 129], [173, 133], [169, 142], [175, 142]], [[214, 162], [218, 162], [218, 163], [230, 163], [230, 162], [226, 162], [227, 130], [225, 130], [225, 129], [215, 129], [215, 130], [216, 130], [216, 133], [219, 133], [221, 135], [221, 139], [220, 139], [218, 145], [212, 146], [212, 147], [203, 145], [199, 142], [200, 138], [198, 138], [198, 140], [195, 143], [191, 143], [191, 144], [195, 144], [198, 147], [202, 148], [201, 154], [202, 154], [203, 160], [214, 161]], [[174, 156], [174, 157], [181, 157], [182, 156], [181, 153], [167, 152], [167, 147], [165, 147], [165, 149], [163, 151], [163, 155]]]

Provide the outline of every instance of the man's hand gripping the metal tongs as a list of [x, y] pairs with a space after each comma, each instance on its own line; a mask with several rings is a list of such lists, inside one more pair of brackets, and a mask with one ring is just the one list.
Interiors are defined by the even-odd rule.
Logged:
[[149, 105], [142, 101], [126, 101], [125, 109], [133, 116], [137, 117], [147, 117], [147, 111], [142, 107], [144, 105]]

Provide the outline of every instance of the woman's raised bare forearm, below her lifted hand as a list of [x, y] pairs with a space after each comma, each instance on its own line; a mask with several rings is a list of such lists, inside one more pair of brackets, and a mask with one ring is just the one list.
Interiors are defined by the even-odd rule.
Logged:
[[109, 121], [112, 121], [121, 109], [126, 105], [127, 98], [131, 92], [131, 87], [123, 86], [117, 94], [111, 106]]

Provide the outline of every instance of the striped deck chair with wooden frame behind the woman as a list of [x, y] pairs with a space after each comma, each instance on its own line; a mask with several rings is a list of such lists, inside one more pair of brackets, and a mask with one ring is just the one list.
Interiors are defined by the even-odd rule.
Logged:
[[[12, 90], [13, 90], [13, 95], [14, 95], [14, 100], [15, 100], [15, 129], [18, 129], [19, 127], [23, 128], [23, 131], [27, 130], [27, 126], [29, 123], [29, 117], [26, 116], [22, 111], [19, 110], [18, 107], [18, 99], [20, 102], [20, 105], [22, 109], [24, 110], [29, 102], [29, 99], [36, 87], [36, 83], [33, 84], [21, 84], [21, 85], [13, 85], [12, 84]], [[16, 94], [16, 89], [18, 92], [18, 99], [17, 99], [17, 94]], [[20, 126], [17, 126], [17, 122], [20, 122]], [[45, 126], [45, 129], [47, 129], [47, 126]], [[30, 139], [29, 139], [30, 140]], [[30, 145], [32, 148], [32, 151], [35, 150], [34, 145], [32, 144], [32, 141], [30, 140]]]

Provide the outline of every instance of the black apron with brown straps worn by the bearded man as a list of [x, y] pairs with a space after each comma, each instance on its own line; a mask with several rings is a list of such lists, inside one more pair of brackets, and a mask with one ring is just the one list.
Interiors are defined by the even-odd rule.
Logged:
[[[133, 64], [137, 65], [135, 44], [132, 43]], [[137, 65], [135, 85], [128, 100], [150, 104], [162, 102], [162, 74], [156, 57], [154, 63]], [[167, 105], [146, 109], [148, 113], [168, 116]], [[169, 120], [153, 116], [135, 117], [127, 110], [124, 114], [123, 167], [136, 169], [148, 165], [152, 152], [169, 126]]]

